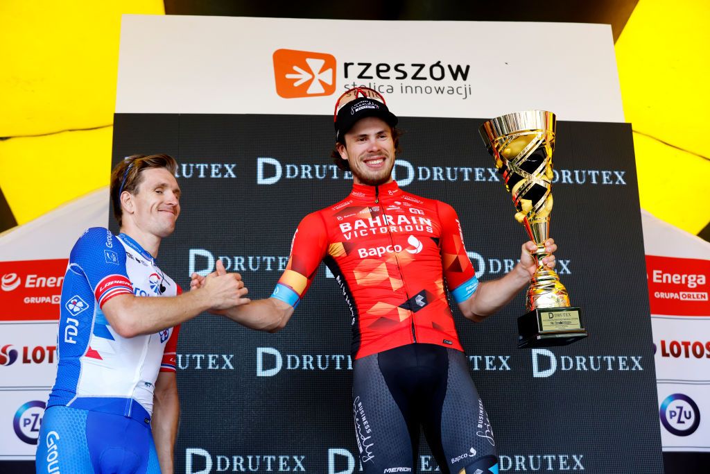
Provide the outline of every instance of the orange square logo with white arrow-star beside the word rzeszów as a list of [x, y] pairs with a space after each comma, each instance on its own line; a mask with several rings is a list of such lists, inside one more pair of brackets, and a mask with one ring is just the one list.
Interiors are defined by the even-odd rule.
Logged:
[[284, 99], [332, 95], [335, 92], [335, 68], [333, 55], [290, 49], [275, 50], [273, 74], [276, 93]]

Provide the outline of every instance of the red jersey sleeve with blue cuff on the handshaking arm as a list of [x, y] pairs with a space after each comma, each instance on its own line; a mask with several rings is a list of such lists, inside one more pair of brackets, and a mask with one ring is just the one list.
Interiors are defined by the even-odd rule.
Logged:
[[328, 235], [318, 212], [307, 215], [298, 225], [288, 265], [278, 280], [271, 298], [280, 299], [294, 308], [305, 295], [327, 251]]

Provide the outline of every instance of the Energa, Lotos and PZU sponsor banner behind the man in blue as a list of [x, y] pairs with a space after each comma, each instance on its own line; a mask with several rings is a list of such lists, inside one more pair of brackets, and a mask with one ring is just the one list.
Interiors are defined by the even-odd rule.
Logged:
[[57, 373], [57, 319], [67, 257], [87, 227], [106, 225], [107, 189], [0, 235], [0, 473], [33, 472]]

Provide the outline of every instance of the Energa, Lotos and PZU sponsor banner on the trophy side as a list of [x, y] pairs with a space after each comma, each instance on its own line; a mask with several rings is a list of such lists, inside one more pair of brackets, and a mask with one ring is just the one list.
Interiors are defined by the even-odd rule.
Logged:
[[643, 227], [666, 470], [707, 468], [710, 244], [648, 214]]

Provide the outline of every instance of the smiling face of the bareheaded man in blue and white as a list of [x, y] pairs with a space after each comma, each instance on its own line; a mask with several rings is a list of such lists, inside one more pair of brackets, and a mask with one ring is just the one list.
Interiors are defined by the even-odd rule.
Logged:
[[136, 194], [124, 191], [121, 196], [124, 220], [129, 217], [138, 229], [155, 237], [168, 237], [175, 230], [180, 215], [180, 186], [173, 173], [165, 168], [141, 171]]

